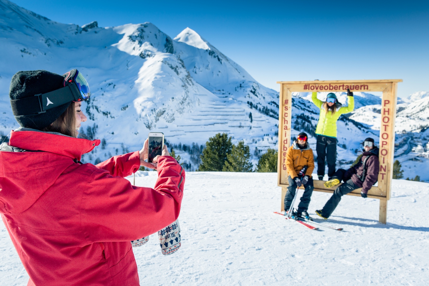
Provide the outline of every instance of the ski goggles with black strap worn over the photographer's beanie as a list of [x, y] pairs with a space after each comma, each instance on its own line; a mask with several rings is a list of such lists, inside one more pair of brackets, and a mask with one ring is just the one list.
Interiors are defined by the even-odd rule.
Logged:
[[[29, 115], [32, 113], [45, 113], [46, 110], [63, 105], [67, 102], [82, 102], [89, 100], [91, 91], [84, 76], [72, 69], [63, 74], [63, 87], [43, 94], [13, 99], [10, 101], [13, 115]], [[40, 83], [43, 84], [43, 83]]]

